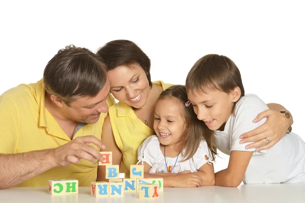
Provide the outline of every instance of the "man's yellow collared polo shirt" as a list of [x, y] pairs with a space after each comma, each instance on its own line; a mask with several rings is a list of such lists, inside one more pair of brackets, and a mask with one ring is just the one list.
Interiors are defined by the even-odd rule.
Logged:
[[[114, 99], [109, 97], [107, 104], [111, 106], [113, 103]], [[101, 113], [97, 123], [80, 128], [73, 139], [85, 135], [94, 135], [101, 139], [106, 115], [107, 113]], [[0, 153], [16, 154], [52, 149], [69, 141], [71, 139], [45, 108], [43, 79], [37, 83], [21, 84], [0, 96]], [[97, 146], [91, 145], [100, 151]], [[90, 182], [96, 181], [97, 166], [97, 161], [92, 163], [82, 159], [80, 164], [52, 168], [18, 186], [47, 187], [48, 180], [60, 179], [76, 179], [79, 186], [89, 186]]]

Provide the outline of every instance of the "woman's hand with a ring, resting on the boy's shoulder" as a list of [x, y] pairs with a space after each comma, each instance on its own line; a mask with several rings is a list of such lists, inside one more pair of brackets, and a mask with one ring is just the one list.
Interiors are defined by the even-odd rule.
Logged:
[[239, 138], [243, 138], [240, 143], [254, 142], [248, 144], [246, 149], [257, 148], [256, 151], [269, 149], [286, 134], [289, 128], [289, 119], [286, 118], [285, 113], [268, 109], [259, 113], [253, 122], [259, 122], [265, 117], [267, 121], [263, 125], [239, 136]]

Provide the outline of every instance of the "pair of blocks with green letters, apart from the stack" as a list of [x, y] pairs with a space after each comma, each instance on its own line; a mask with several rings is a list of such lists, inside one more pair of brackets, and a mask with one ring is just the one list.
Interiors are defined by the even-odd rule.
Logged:
[[64, 179], [49, 181], [50, 195], [78, 194], [78, 180]]

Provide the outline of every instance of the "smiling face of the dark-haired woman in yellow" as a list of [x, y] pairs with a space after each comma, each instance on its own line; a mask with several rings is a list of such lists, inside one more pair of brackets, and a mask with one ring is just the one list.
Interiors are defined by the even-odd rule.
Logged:
[[108, 71], [108, 78], [110, 92], [115, 99], [134, 108], [144, 106], [150, 87], [145, 71], [139, 64], [118, 66]]

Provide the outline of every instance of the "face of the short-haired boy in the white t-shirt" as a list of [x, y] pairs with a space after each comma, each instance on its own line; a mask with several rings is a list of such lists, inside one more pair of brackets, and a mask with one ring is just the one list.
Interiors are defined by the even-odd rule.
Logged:
[[204, 121], [210, 130], [223, 130], [224, 124], [230, 118], [236, 97], [233, 93], [219, 90], [209, 90], [207, 94], [201, 91], [189, 91], [189, 101], [192, 103], [197, 118]]

